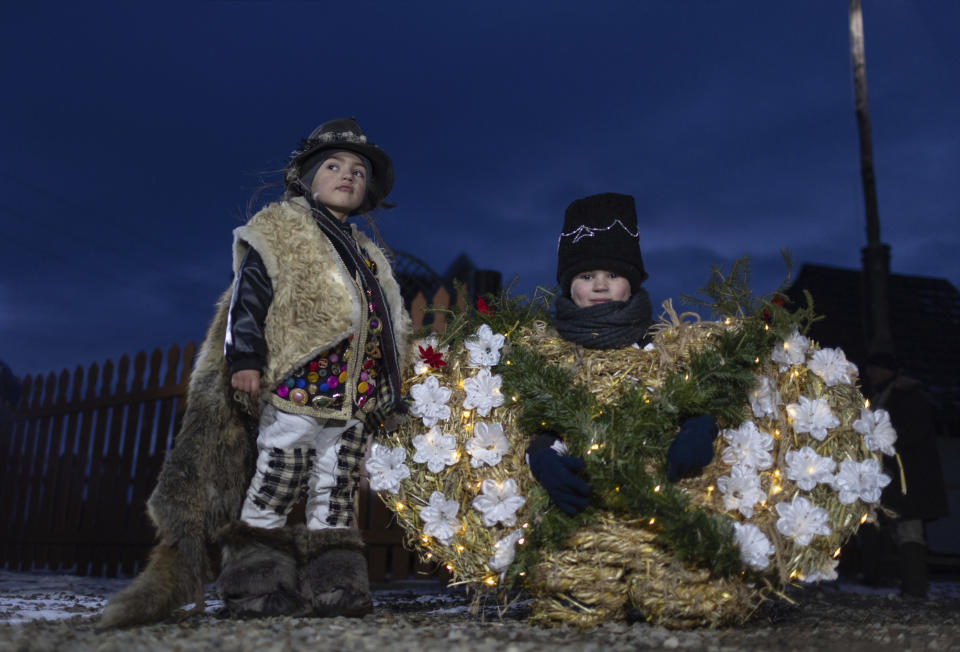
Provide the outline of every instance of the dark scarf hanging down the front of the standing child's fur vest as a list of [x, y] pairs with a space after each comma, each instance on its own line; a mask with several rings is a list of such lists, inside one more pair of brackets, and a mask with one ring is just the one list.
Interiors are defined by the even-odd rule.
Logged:
[[[387, 382], [390, 386], [390, 405], [384, 407], [393, 407], [400, 402], [401, 397], [400, 360], [397, 354], [397, 343], [394, 339], [393, 319], [390, 316], [390, 308], [383, 294], [383, 288], [380, 287], [380, 282], [373, 270], [363, 259], [357, 241], [353, 239], [353, 231], [350, 229], [350, 225], [345, 221], [334, 218], [323, 205], [313, 201], [310, 202], [310, 205], [313, 208], [313, 219], [330, 239], [351, 278], [355, 278], [357, 272], [360, 273], [363, 290], [367, 294], [366, 299], [373, 303], [373, 312], [377, 315], [380, 323], [383, 324], [383, 329], [380, 331], [381, 351], [386, 364]], [[360, 300], [363, 301], [364, 297], [360, 297]], [[358, 352], [358, 355], [360, 353]]]

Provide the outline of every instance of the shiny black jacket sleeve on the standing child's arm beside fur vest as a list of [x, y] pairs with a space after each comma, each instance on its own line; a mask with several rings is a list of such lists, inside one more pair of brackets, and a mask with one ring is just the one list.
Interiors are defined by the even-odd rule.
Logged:
[[260, 254], [251, 247], [237, 270], [227, 313], [223, 351], [231, 374], [243, 369], [263, 369], [267, 359], [263, 327], [272, 300], [273, 284], [267, 268]]

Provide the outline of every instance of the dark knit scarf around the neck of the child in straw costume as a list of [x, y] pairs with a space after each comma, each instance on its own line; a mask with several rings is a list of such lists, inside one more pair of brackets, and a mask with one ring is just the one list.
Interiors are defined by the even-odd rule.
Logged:
[[569, 297], [558, 297], [553, 325], [563, 339], [588, 349], [619, 349], [643, 339], [652, 323], [650, 295], [643, 288], [624, 301], [607, 301], [578, 308]]

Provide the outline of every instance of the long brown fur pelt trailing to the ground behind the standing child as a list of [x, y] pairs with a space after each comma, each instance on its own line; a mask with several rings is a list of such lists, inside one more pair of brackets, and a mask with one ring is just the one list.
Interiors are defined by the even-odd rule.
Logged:
[[232, 400], [223, 356], [230, 296], [217, 304], [190, 376], [183, 424], [147, 501], [160, 542], [143, 572], [108, 602], [102, 628], [163, 620], [197, 596], [202, 603], [203, 585], [219, 570], [208, 544], [239, 514], [256, 460], [255, 415]]

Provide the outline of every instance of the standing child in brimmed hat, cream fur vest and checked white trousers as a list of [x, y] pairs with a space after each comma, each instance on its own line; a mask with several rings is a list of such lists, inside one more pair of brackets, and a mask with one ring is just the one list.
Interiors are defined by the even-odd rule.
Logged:
[[[214, 577], [237, 617], [372, 609], [354, 496], [367, 436], [400, 403], [410, 319], [384, 253], [347, 220], [384, 204], [392, 162], [333, 120], [284, 183], [234, 231], [234, 283], [148, 503], [160, 544], [104, 626], [202, 608]], [[306, 523], [288, 525], [303, 497]]]

